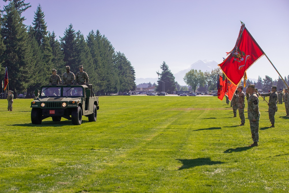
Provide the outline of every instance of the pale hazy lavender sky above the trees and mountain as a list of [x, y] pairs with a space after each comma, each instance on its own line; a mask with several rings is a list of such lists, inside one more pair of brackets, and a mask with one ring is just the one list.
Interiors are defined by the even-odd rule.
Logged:
[[[275, 65], [281, 76], [289, 74], [288, 0], [26, 0], [32, 5], [22, 16], [31, 25], [38, 4], [47, 30], [64, 36], [69, 24], [86, 37], [99, 30], [115, 51], [125, 54], [136, 78], [157, 78], [163, 61], [173, 73], [198, 60], [226, 58], [236, 43], [240, 21]], [[7, 5], [0, 1], [1, 9]], [[265, 56], [248, 71], [278, 78]]]

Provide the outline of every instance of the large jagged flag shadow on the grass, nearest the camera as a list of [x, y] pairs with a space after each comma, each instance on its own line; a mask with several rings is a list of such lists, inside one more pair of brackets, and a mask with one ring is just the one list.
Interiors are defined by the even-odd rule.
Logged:
[[193, 168], [196, 166], [214, 165], [214, 164], [225, 163], [225, 162], [221, 162], [221, 161], [212, 161], [211, 158], [176, 159], [176, 160], [179, 160], [183, 164], [178, 170]]

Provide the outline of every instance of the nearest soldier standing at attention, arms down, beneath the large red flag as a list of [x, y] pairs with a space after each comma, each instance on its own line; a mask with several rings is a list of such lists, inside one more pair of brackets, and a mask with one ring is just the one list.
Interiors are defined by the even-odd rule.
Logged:
[[250, 122], [251, 137], [253, 139], [253, 144], [249, 145], [250, 147], [258, 146], [259, 141], [259, 99], [254, 91], [254, 84], [251, 84], [247, 87], [246, 93], [250, 94], [248, 99], [248, 119]]

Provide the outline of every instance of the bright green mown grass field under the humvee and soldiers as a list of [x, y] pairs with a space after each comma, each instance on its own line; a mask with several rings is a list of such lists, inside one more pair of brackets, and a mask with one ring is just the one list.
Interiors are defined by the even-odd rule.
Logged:
[[289, 192], [289, 118], [280, 104], [269, 128], [259, 99], [253, 148], [216, 97], [103, 96], [80, 126], [32, 125], [32, 100], [0, 100], [0, 192]]

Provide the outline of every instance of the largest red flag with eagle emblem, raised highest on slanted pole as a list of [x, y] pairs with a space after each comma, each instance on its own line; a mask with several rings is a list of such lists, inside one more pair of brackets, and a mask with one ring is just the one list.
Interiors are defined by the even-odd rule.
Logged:
[[227, 78], [238, 85], [246, 70], [264, 55], [263, 50], [242, 23], [235, 47], [221, 64], [220, 68]]

